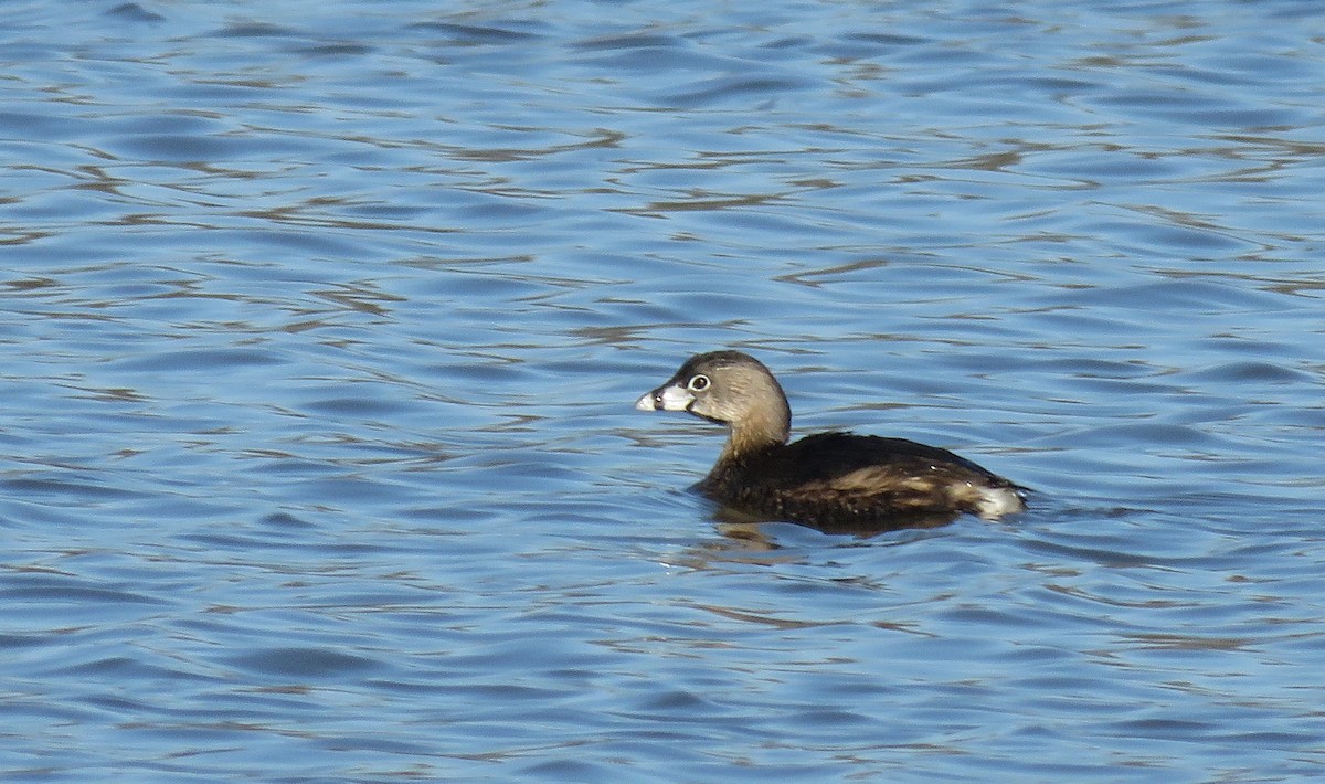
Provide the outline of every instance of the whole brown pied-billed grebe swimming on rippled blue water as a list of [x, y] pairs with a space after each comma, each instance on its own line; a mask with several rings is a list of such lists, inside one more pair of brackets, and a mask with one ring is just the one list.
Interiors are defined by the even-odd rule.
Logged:
[[1024, 489], [946, 449], [904, 438], [819, 433], [787, 444], [791, 408], [778, 380], [739, 351], [690, 358], [640, 411], [686, 411], [727, 425], [697, 486], [737, 510], [819, 527], [897, 527], [1026, 509]]

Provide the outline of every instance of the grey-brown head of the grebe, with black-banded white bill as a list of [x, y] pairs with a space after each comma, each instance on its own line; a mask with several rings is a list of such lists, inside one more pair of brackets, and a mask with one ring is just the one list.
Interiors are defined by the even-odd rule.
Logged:
[[727, 425], [729, 456], [768, 442], [786, 444], [791, 433], [791, 408], [778, 380], [763, 363], [739, 351], [692, 356], [635, 408], [685, 411]]

